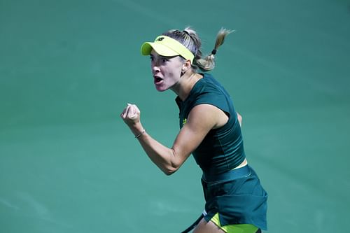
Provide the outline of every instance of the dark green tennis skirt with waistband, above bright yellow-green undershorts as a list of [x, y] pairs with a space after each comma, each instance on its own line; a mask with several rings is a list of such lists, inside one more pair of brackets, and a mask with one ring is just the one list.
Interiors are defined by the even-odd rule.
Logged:
[[247, 165], [228, 173], [229, 176], [227, 173], [223, 176], [230, 177], [228, 180], [202, 177], [207, 212], [204, 219], [209, 222], [218, 213], [222, 226], [252, 224], [267, 230], [267, 192], [255, 171]]

